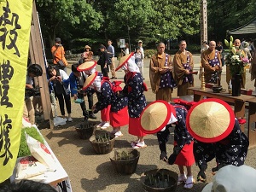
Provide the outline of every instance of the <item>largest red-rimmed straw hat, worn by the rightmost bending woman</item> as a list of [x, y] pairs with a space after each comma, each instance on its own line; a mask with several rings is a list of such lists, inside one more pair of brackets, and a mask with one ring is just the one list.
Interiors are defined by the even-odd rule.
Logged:
[[230, 105], [219, 99], [197, 102], [186, 119], [189, 133], [203, 143], [215, 143], [227, 137], [235, 125], [235, 113]]

